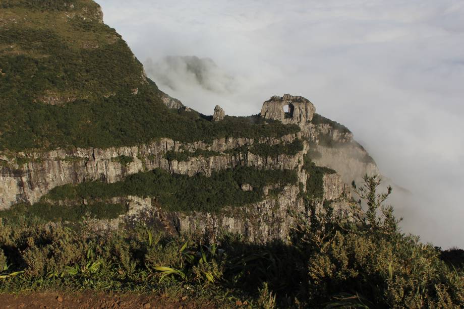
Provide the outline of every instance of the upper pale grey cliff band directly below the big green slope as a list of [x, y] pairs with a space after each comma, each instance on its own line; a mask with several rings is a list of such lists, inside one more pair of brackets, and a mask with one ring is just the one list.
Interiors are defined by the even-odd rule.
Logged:
[[[278, 144], [293, 142], [297, 136], [261, 139], [259, 143]], [[183, 144], [170, 139], [161, 139], [150, 144], [133, 147], [110, 147], [107, 149], [54, 150], [29, 154], [2, 154], [0, 166], [0, 210], [20, 202], [35, 203], [56, 186], [81, 183], [89, 180], [115, 182], [126, 175], [139, 171], [161, 168], [172, 173], [211, 175], [213, 170], [237, 165], [262, 168], [294, 169], [303, 162], [303, 152], [296, 156], [281, 155], [278, 158], [262, 158], [252, 153], [226, 154], [227, 150], [253, 145], [254, 139], [217, 139], [212, 143], [195, 142]], [[167, 151], [180, 148], [194, 152], [210, 150], [221, 155], [192, 157], [188, 161], [168, 160]], [[132, 162], [121, 164], [115, 158], [130, 157]]]

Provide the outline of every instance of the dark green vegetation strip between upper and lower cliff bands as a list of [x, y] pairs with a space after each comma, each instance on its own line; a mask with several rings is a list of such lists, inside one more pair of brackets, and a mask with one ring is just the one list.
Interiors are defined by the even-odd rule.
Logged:
[[[296, 182], [295, 170], [238, 167], [213, 171], [208, 177], [201, 173], [188, 176], [155, 169], [129, 175], [115, 183], [90, 181], [77, 186], [67, 184], [54, 188], [44, 198], [52, 201], [105, 200], [132, 195], [153, 197], [167, 210], [214, 212], [226, 206], [262, 201], [264, 186], [279, 184], [277, 192], [280, 192], [286, 184]], [[245, 183], [250, 184], [253, 191], [243, 191], [241, 186]]]

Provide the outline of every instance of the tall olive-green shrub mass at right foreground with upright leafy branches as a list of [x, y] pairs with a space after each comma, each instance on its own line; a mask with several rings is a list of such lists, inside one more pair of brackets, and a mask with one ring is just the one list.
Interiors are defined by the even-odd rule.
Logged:
[[[398, 230], [391, 206], [379, 194], [381, 179], [365, 176], [353, 189], [349, 220], [333, 220], [330, 208], [297, 220], [292, 236], [305, 251], [309, 303], [339, 307], [460, 307], [464, 272], [450, 269], [440, 251]], [[362, 203], [367, 205], [362, 208]], [[309, 219], [309, 220], [308, 220]]]

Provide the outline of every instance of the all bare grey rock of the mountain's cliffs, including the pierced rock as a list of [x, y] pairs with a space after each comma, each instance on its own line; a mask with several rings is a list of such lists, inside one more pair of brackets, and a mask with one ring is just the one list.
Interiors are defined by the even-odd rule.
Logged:
[[[0, 155], [0, 208], [7, 209], [19, 202], [37, 202], [48, 191], [63, 184], [78, 184], [90, 180], [115, 182], [129, 174], [155, 168], [171, 173], [203, 173], [207, 176], [211, 175], [212, 171], [239, 165], [260, 169], [291, 169], [297, 171], [298, 183], [286, 186], [278, 196], [269, 195], [269, 190], [265, 189], [265, 199], [253, 205], [226, 208], [218, 213], [183, 213], [165, 211], [153, 198], [120, 197], [116, 200], [125, 203], [129, 212], [118, 219], [100, 222], [101, 228], [116, 228], [125, 221], [151, 218], [152, 224], [169, 231], [200, 229], [212, 235], [220, 231], [229, 231], [241, 233], [252, 241], [282, 238], [292, 225], [288, 212], [305, 210], [302, 195], [307, 191], [306, 180], [309, 177], [303, 168], [306, 155], [317, 165], [341, 171], [341, 176], [323, 176], [324, 194], [323, 198], [317, 201], [320, 205], [324, 201], [328, 202], [337, 211], [343, 211], [346, 198], [350, 195], [345, 182], [366, 172], [376, 173], [378, 169], [365, 150], [353, 140], [351, 132], [328, 119], [316, 123], [307, 120], [313, 119], [315, 115], [315, 108], [308, 100], [289, 95], [277, 98], [279, 97], [273, 97], [263, 104], [263, 110], [266, 112], [262, 116], [276, 119], [281, 114], [277, 110], [282, 109], [283, 112], [284, 104], [292, 104], [296, 106], [294, 115], [299, 116], [291, 118], [291, 121], [299, 124], [302, 129], [299, 133], [258, 140], [223, 138], [211, 143], [183, 144], [171, 139], [160, 139], [133, 147], [59, 149], [27, 154], [3, 153]], [[295, 140], [303, 141], [303, 149], [295, 155], [278, 154], [263, 157], [250, 151], [233, 151], [244, 149], [244, 146], [248, 149], [257, 144], [287, 145]], [[172, 151], [193, 153], [198, 150], [210, 151], [214, 155], [192, 156], [181, 161], [168, 159], [166, 156], [167, 152]], [[118, 160], [121, 156], [130, 160], [123, 164]], [[253, 188], [244, 184], [242, 190]]]

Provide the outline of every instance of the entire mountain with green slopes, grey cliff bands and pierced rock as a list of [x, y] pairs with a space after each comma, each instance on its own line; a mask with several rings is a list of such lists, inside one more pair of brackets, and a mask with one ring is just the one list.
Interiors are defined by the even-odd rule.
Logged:
[[3, 216], [90, 212], [101, 228], [149, 218], [264, 241], [285, 237], [288, 211], [305, 202], [344, 211], [343, 180], [378, 173], [352, 133], [305, 98], [274, 96], [260, 114], [232, 117], [169, 97], [93, 1], [0, 7]]

